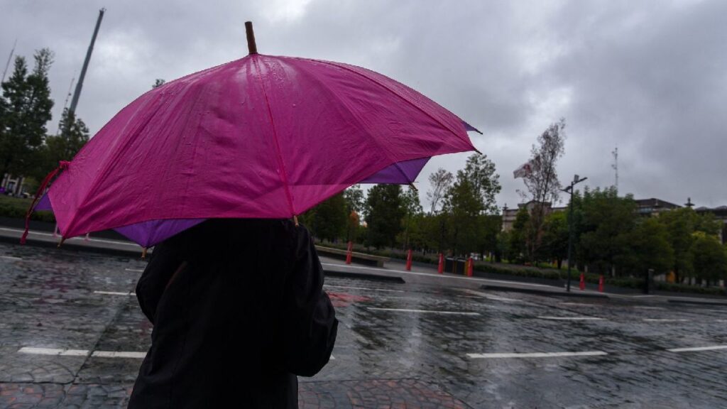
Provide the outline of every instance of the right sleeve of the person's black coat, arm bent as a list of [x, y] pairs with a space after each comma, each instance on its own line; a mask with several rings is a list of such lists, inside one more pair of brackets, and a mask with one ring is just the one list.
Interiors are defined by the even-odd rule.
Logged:
[[283, 333], [286, 369], [313, 376], [328, 363], [336, 341], [338, 320], [323, 290], [324, 274], [308, 230], [299, 226], [295, 261], [286, 280]]

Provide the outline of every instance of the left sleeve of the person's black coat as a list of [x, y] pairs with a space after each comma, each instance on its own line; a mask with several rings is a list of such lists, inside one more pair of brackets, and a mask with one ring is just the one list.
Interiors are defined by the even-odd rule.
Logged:
[[136, 287], [139, 306], [152, 324], [161, 295], [164, 294], [166, 285], [182, 263], [180, 252], [176, 251], [171, 243], [162, 242], [154, 247], [149, 263]]

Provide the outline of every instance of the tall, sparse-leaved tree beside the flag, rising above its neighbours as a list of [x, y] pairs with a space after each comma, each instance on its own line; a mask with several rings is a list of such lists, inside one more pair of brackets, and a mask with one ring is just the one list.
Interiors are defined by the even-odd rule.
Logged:
[[565, 153], [565, 129], [566, 120], [561, 119], [550, 124], [537, 138], [537, 144], [531, 148], [530, 170], [523, 177], [534, 204], [527, 237], [527, 253], [531, 259], [535, 257], [540, 246], [547, 205], [558, 202], [561, 182], [558, 180], [556, 165]]

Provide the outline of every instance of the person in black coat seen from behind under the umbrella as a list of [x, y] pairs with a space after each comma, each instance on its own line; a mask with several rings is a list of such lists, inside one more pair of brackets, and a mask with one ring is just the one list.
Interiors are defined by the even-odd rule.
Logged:
[[289, 220], [210, 219], [166, 239], [137, 284], [154, 327], [129, 408], [297, 408], [297, 375], [336, 340], [323, 282]]

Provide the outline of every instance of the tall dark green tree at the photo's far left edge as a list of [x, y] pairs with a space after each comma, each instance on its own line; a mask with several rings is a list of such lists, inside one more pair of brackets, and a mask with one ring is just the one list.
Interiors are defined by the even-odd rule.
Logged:
[[0, 98], [0, 175], [26, 175], [39, 162], [39, 147], [51, 119], [48, 71], [53, 54], [36, 52], [33, 71], [28, 74], [24, 57], [15, 59], [12, 76], [2, 84]]

